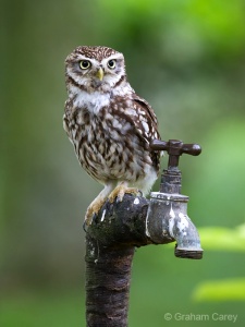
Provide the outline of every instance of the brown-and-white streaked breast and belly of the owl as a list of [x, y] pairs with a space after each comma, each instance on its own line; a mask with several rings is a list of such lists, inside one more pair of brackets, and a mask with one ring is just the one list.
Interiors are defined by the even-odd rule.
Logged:
[[77, 108], [66, 123], [76, 156], [94, 179], [137, 181], [152, 167], [148, 144], [117, 105], [99, 112]]

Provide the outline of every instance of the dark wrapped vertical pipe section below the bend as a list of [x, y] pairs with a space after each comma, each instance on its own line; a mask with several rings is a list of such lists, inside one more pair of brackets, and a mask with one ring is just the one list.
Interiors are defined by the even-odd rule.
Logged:
[[86, 235], [87, 326], [127, 327], [134, 246], [105, 246]]

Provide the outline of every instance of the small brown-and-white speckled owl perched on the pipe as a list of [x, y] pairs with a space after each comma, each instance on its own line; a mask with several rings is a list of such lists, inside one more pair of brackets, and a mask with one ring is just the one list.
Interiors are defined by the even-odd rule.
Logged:
[[77, 47], [65, 59], [65, 84], [64, 130], [81, 166], [103, 185], [87, 208], [89, 226], [108, 198], [150, 191], [159, 172], [150, 142], [160, 135], [152, 108], [127, 82], [122, 53]]

